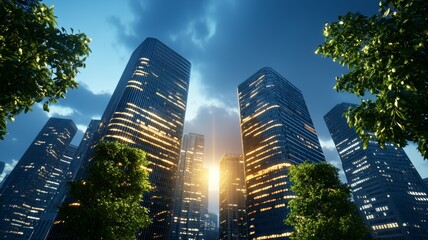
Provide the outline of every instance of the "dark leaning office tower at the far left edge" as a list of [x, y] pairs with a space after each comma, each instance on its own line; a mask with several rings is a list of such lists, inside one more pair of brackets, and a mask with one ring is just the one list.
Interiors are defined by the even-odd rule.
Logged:
[[0, 238], [29, 239], [67, 179], [62, 156], [76, 131], [72, 120], [50, 118], [31, 143], [0, 192]]

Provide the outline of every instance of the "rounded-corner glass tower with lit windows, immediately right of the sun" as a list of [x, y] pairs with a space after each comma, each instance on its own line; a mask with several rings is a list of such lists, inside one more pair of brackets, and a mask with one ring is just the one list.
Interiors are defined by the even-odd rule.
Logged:
[[269, 67], [238, 86], [249, 239], [287, 239], [292, 165], [324, 156], [299, 89]]

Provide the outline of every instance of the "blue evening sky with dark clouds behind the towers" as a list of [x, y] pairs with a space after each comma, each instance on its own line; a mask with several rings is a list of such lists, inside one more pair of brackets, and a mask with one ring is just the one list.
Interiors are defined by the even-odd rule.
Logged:
[[[205, 165], [218, 171], [225, 153], [241, 153], [238, 85], [270, 66], [298, 87], [327, 161], [345, 181], [323, 116], [340, 102], [358, 103], [333, 90], [335, 77], [347, 69], [314, 54], [323, 43], [326, 22], [347, 12], [373, 15], [373, 0], [45, 0], [54, 5], [60, 27], [92, 39], [92, 53], [77, 77], [79, 88], [43, 112], [41, 105], [9, 123], [0, 140], [0, 161], [10, 171], [49, 117], [72, 119], [78, 145], [92, 118], [100, 118], [131, 53], [155, 37], [192, 64], [184, 132], [205, 136]], [[428, 162], [415, 145], [405, 148], [418, 172], [428, 177]], [[0, 176], [0, 179], [5, 174]], [[215, 179], [215, 178], [213, 178]], [[210, 210], [218, 212], [218, 182], [210, 183]]]

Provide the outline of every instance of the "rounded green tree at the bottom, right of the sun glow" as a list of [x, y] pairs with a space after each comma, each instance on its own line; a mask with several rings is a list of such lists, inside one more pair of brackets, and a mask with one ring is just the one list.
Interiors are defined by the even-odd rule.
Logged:
[[351, 202], [350, 189], [340, 182], [337, 168], [327, 162], [305, 162], [293, 166], [289, 176], [296, 194], [285, 220], [295, 229], [291, 239], [365, 239], [367, 227]]

